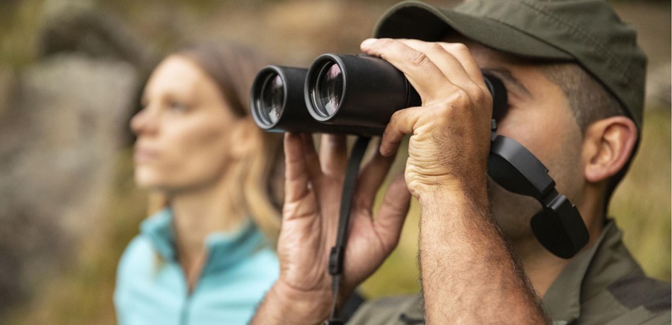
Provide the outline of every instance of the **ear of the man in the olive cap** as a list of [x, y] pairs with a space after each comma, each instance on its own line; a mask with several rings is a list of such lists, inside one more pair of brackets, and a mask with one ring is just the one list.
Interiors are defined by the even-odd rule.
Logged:
[[581, 153], [588, 182], [601, 182], [619, 172], [637, 143], [637, 126], [624, 116], [608, 117], [589, 125]]

